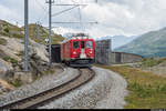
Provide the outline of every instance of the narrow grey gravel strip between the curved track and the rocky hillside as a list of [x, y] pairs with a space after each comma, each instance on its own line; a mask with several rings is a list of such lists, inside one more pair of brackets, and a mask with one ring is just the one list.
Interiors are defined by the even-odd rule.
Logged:
[[54, 74], [44, 75], [31, 84], [22, 85], [6, 95], [0, 95], [0, 105], [51, 89], [73, 79], [77, 74], [76, 69], [66, 68], [63, 72], [58, 70]]

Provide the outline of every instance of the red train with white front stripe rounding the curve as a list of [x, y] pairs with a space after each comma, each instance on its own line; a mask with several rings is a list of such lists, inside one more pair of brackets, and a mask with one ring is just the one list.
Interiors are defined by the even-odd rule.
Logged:
[[87, 34], [71, 34], [61, 44], [61, 61], [68, 65], [87, 67], [94, 58], [95, 42]]

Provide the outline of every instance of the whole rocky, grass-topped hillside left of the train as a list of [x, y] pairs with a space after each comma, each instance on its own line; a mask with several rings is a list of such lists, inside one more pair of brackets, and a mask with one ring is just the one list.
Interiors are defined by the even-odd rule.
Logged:
[[[48, 30], [40, 26], [37, 37], [37, 26], [29, 26], [29, 72], [23, 72], [24, 28], [19, 28], [0, 20], [0, 94], [31, 83], [43, 74], [54, 73], [54, 68], [48, 68], [49, 53], [44, 39]], [[63, 37], [52, 32], [52, 43], [60, 43]]]

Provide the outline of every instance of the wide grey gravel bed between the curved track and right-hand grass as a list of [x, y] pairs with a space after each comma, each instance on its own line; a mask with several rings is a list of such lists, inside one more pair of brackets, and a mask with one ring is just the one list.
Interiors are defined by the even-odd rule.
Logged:
[[96, 75], [91, 82], [39, 109], [122, 109], [126, 81], [110, 70], [93, 69]]

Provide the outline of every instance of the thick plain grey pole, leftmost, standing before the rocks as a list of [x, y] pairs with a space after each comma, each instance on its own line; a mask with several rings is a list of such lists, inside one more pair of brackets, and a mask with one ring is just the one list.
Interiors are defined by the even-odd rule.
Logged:
[[28, 0], [24, 0], [24, 71], [28, 72], [28, 41], [29, 41], [29, 16], [28, 16]]

